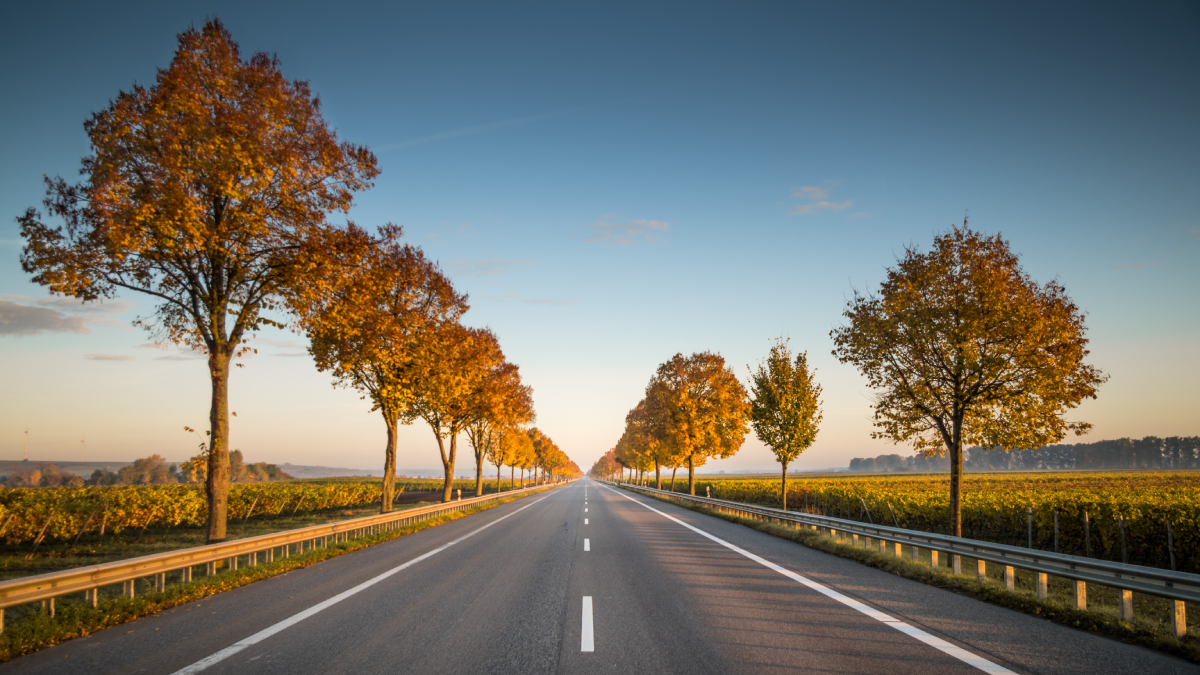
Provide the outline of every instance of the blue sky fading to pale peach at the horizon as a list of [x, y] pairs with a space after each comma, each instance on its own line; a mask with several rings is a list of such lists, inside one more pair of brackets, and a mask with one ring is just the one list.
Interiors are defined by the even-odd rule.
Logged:
[[[145, 346], [151, 305], [50, 298], [14, 217], [77, 175], [83, 121], [151, 83], [218, 16], [310, 80], [383, 171], [394, 221], [472, 298], [582, 468], [654, 368], [718, 351], [746, 378], [774, 336], [824, 384], [793, 466], [905, 447], [829, 354], [854, 288], [961, 222], [1001, 232], [1088, 312], [1111, 375], [1085, 440], [1200, 435], [1200, 10], [1195, 2], [20, 2], [0, 42], [0, 459], [194, 454], [202, 358]], [[251, 461], [382, 466], [384, 426], [295, 336], [232, 382]], [[1072, 438], [1074, 440], [1074, 438]], [[420, 423], [400, 466], [439, 466]], [[469, 455], [468, 455], [469, 456]], [[466, 472], [468, 461], [460, 464]], [[707, 468], [770, 468], [752, 435]]]

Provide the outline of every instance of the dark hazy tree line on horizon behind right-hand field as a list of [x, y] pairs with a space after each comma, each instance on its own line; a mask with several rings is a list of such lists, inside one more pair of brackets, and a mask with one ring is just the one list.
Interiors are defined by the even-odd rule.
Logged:
[[[964, 466], [967, 471], [1200, 468], [1200, 436], [1114, 438], [1094, 443], [1043, 446], [1010, 453], [972, 447], [967, 449]], [[850, 460], [850, 471], [854, 473], [931, 472], [949, 471], [949, 459], [944, 455], [926, 458], [890, 454]]]

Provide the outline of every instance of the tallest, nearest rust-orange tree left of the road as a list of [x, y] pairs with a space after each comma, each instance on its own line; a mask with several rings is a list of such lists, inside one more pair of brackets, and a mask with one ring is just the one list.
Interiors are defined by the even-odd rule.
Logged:
[[288, 309], [284, 291], [306, 292], [328, 214], [371, 186], [376, 157], [338, 143], [308, 84], [271, 55], [244, 60], [217, 19], [180, 34], [155, 83], [120, 92], [84, 130], [84, 179], [46, 179], [44, 208], [64, 225], [35, 209], [18, 219], [22, 268], [84, 301], [144, 293], [157, 305], [139, 325], [208, 354], [208, 540], [221, 542], [232, 362], [277, 324], [268, 312]]

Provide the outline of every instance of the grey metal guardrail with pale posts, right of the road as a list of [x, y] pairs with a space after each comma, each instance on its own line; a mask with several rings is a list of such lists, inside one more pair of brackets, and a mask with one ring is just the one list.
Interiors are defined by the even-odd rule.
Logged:
[[1037, 574], [1037, 595], [1042, 599], [1045, 599], [1049, 595], [1049, 575], [1062, 577], [1074, 581], [1075, 607], [1078, 609], [1087, 609], [1087, 584], [1111, 586], [1120, 591], [1121, 602], [1118, 604], [1123, 621], [1133, 620], [1134, 591], [1168, 598], [1172, 601], [1171, 627], [1176, 637], [1183, 637], [1187, 633], [1184, 601], [1200, 602], [1200, 574], [1039, 551], [917, 530], [870, 525], [857, 520], [797, 513], [710, 497], [695, 497], [680, 492], [630, 485], [628, 483], [620, 483], [618, 486], [702, 504], [731, 515], [757, 520], [766, 519], [775, 522], [792, 522], [812, 527], [814, 530], [828, 530], [829, 536], [839, 540], [845, 540], [847, 536], [851, 537], [851, 544], [854, 546], [859, 545], [859, 538], [863, 539], [863, 548], [870, 545], [870, 539], [875, 539], [880, 552], [887, 552], [890, 544], [894, 546], [896, 557], [901, 556], [901, 545], [907, 545], [913, 561], [918, 560], [918, 551], [925, 549], [931, 554], [930, 563], [932, 567], [937, 567], [938, 552], [944, 552], [950, 556], [950, 568], [955, 574], [962, 573], [962, 556], [971, 557], [978, 561], [976, 574], [980, 580], [986, 579], [986, 563], [1001, 565], [1004, 567], [1004, 585], [1010, 591], [1015, 587], [1016, 574], [1014, 569], [1018, 567], [1028, 569]]

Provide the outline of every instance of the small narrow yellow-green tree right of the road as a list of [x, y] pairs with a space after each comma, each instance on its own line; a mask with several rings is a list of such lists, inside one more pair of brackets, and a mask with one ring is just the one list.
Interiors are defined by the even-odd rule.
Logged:
[[787, 465], [817, 438], [821, 425], [821, 386], [809, 369], [808, 352], [792, 358], [787, 341], [779, 339], [750, 374], [750, 425], [784, 467], [781, 489], [787, 510]]

